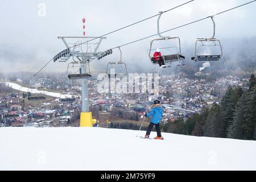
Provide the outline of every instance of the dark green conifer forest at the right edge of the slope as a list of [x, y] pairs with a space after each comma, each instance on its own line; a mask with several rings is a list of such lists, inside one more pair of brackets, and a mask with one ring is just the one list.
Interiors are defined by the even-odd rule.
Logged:
[[201, 114], [193, 114], [184, 122], [178, 118], [162, 126], [176, 134], [256, 140], [256, 78], [250, 76], [247, 89], [241, 86], [228, 90], [220, 104], [213, 104]]

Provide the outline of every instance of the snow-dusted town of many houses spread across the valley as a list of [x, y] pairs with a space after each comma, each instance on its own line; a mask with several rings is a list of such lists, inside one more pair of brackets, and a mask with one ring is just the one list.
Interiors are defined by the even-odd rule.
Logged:
[[[200, 113], [204, 107], [218, 104], [229, 85], [246, 88], [248, 79], [237, 76], [222, 77], [214, 81], [207, 78], [184, 78], [180, 75], [163, 75], [159, 82], [159, 94], [152, 96], [142, 94], [98, 93], [95, 79], [89, 80], [90, 111], [97, 119], [99, 127], [124, 127], [135, 129], [141, 124], [146, 111], [150, 110], [152, 101], [160, 99], [163, 107], [163, 122], [174, 122], [182, 117], [184, 121], [193, 113]], [[81, 113], [81, 86], [71, 80], [55, 80], [53, 77], [38, 77], [30, 86], [32, 89], [44, 90], [46, 100], [28, 101], [27, 92], [18, 92], [11, 88], [10, 82], [18, 85], [23, 80], [2, 78], [0, 81], [0, 126], [1, 127], [61, 127], [79, 126]], [[48, 91], [47, 91], [48, 90]], [[56, 93], [55, 97], [47, 92]], [[41, 94], [42, 95], [42, 94]], [[69, 95], [70, 98], [63, 96]], [[111, 122], [110, 122], [111, 121]], [[121, 123], [125, 123], [121, 125]], [[129, 125], [130, 124], [130, 125]], [[130, 127], [129, 127], [130, 126]]]

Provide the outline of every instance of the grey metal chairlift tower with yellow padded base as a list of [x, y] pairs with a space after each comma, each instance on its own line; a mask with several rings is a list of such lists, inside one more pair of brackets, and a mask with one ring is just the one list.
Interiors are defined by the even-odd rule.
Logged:
[[[83, 19], [83, 23], [84, 22], [85, 20]], [[53, 61], [55, 62], [59, 60], [59, 62], [66, 62], [72, 58], [72, 61], [68, 64], [68, 68], [70, 64], [73, 66], [78, 65], [76, 67], [80, 67], [79, 74], [68, 75], [68, 78], [71, 80], [80, 79], [82, 82], [82, 112], [80, 114], [80, 127], [93, 126], [93, 122], [96, 120], [92, 118], [92, 112], [89, 111], [88, 97], [88, 80], [91, 77], [90, 62], [96, 58], [99, 60], [102, 57], [109, 55], [112, 53], [112, 50], [98, 52], [102, 40], [106, 39], [106, 37], [59, 36], [58, 39], [63, 40], [67, 49], [53, 57]]]

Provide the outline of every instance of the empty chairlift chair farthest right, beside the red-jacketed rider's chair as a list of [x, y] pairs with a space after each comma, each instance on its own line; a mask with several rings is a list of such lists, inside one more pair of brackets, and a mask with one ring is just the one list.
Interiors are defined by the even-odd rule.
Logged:
[[[201, 61], [201, 62], [214, 62], [214, 61], [223, 61], [222, 59], [222, 45], [220, 40], [214, 38], [215, 36], [215, 22], [213, 16], [209, 16], [213, 22], [213, 35], [212, 38], [197, 38], [195, 46], [195, 56], [191, 57], [191, 60]], [[201, 43], [201, 45], [199, 45]], [[214, 48], [217, 48], [217, 53], [211, 53], [214, 51]], [[212, 49], [209, 49], [212, 48]], [[201, 49], [201, 51], [200, 51]], [[203, 49], [203, 51], [202, 51]], [[207, 52], [207, 53], [204, 53]]]

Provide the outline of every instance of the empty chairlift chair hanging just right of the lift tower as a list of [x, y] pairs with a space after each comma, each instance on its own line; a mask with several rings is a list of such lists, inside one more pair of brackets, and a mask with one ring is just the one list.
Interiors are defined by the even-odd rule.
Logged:
[[114, 71], [115, 71], [115, 74], [114, 74], [115, 77], [117, 75], [122, 75], [122, 76], [128, 75], [127, 66], [122, 61], [122, 51], [121, 51], [120, 47], [118, 47], [118, 49], [120, 51], [120, 60], [117, 62], [109, 62], [106, 67], [106, 75], [108, 75], [109, 78], [112, 75], [112, 72], [111, 72], [112, 69], [114, 69]]

